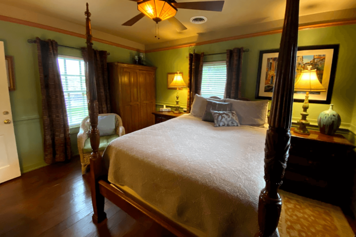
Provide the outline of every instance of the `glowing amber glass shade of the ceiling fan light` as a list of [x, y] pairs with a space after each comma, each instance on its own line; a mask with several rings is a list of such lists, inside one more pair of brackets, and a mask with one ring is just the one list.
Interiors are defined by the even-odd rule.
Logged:
[[137, 3], [137, 8], [155, 22], [174, 17], [177, 13], [177, 9], [170, 3], [161, 0], [144, 0]]

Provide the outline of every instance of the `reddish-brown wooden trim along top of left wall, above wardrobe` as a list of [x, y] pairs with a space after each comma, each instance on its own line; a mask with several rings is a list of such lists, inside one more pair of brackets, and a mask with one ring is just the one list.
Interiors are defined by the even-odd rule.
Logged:
[[[44, 30], [54, 31], [54, 32], [58, 32], [58, 33], [62, 33], [62, 34], [71, 35], [71, 36], [75, 36], [75, 37], [86, 39], [85, 35], [83, 35], [83, 34], [79, 34], [79, 33], [72, 32], [72, 31], [67, 31], [67, 30], [63, 30], [63, 29], [59, 29], [59, 28], [55, 28], [55, 27], [51, 27], [51, 26], [42, 25], [42, 24], [39, 24], [39, 23], [20, 20], [20, 19], [16, 19], [16, 18], [12, 18], [12, 17], [7, 17], [7, 16], [1, 16], [0, 15], [0, 21], [17, 23], [17, 24], [20, 24], [20, 25], [36, 27], [36, 28], [40, 28], [40, 29], [44, 29]], [[124, 49], [129, 49], [129, 50], [133, 50], [133, 51], [137, 51], [137, 52], [142, 52], [142, 53], [145, 52], [145, 50], [142, 50], [142, 49], [129, 47], [129, 46], [126, 46], [126, 45], [114, 43], [114, 42], [111, 42], [111, 41], [107, 41], [107, 40], [103, 40], [103, 39], [99, 39], [99, 38], [95, 38], [95, 37], [93, 37], [93, 41], [104, 43], [104, 44], [108, 44], [108, 45], [112, 45], [112, 46], [116, 46], [116, 47], [120, 47], [120, 48], [124, 48]]]

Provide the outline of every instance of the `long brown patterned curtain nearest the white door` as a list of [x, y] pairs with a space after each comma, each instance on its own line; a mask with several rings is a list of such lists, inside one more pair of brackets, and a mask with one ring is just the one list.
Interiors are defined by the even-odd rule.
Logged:
[[42, 95], [44, 161], [47, 164], [71, 159], [71, 138], [64, 98], [58, 47], [54, 40], [36, 38]]

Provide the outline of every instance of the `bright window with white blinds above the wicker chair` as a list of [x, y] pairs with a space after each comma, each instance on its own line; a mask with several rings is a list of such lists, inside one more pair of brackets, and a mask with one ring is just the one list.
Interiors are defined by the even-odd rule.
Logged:
[[76, 126], [88, 116], [84, 60], [78, 57], [60, 56], [58, 64], [60, 65], [69, 126]]

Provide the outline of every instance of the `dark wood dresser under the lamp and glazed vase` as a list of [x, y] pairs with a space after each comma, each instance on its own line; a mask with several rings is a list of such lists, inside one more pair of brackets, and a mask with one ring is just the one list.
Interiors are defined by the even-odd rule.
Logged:
[[281, 189], [349, 207], [355, 171], [355, 146], [341, 134], [294, 133]]

